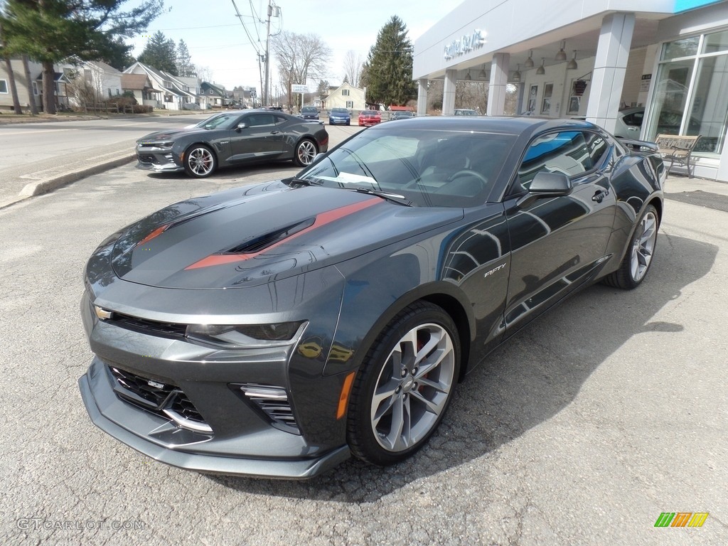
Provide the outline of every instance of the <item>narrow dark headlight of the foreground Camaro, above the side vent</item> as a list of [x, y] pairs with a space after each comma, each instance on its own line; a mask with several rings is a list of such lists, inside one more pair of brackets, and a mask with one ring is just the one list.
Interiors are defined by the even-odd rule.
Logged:
[[305, 327], [303, 320], [255, 325], [192, 324], [187, 327], [186, 337], [228, 348], [277, 347], [298, 339]]

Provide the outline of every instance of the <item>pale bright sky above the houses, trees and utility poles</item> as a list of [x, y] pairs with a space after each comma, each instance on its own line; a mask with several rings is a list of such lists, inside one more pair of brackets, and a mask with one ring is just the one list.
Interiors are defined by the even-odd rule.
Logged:
[[[363, 58], [376, 42], [376, 35], [392, 15], [398, 15], [413, 41], [450, 12], [459, 0], [398, 0], [396, 2], [363, 2], [347, 0], [275, 0], [282, 17], [272, 18], [271, 33], [280, 28], [299, 34], [318, 34], [333, 50], [328, 80], [339, 84], [344, 79], [343, 60], [348, 50]], [[213, 80], [232, 90], [236, 85], [255, 86], [260, 90], [256, 47], [265, 50], [264, 19], [267, 0], [235, 0], [242, 20], [253, 36], [255, 47], [235, 16], [232, 0], [166, 0], [169, 12], [154, 20], [149, 33], [132, 43], [132, 55], [140, 55], [146, 40], [157, 31], [178, 43], [183, 39], [189, 48], [192, 63], [210, 68]], [[252, 9], [258, 17], [251, 15]], [[257, 23], [257, 24], [256, 24]], [[258, 38], [260, 42], [258, 43]], [[277, 84], [276, 60], [272, 55], [271, 74]], [[312, 82], [309, 82], [311, 84]], [[275, 92], [273, 87], [272, 92]]]

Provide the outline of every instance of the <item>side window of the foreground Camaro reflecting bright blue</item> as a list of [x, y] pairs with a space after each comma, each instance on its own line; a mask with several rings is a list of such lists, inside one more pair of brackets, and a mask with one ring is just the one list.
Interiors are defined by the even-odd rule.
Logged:
[[572, 177], [590, 168], [591, 157], [582, 132], [552, 132], [537, 137], [526, 149], [526, 156], [518, 168], [518, 181], [522, 189], [529, 189], [534, 176], [541, 171]]

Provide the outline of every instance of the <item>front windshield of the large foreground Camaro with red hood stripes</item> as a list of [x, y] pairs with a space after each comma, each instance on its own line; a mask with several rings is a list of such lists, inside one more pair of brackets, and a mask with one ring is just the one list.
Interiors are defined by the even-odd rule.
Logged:
[[419, 207], [472, 207], [485, 202], [514, 141], [490, 132], [366, 130], [297, 178], [383, 191]]

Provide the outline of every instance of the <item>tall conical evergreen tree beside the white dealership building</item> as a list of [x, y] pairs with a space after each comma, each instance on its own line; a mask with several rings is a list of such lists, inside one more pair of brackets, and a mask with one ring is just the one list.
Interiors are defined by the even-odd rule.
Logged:
[[403, 105], [415, 98], [417, 88], [412, 80], [412, 42], [407, 27], [392, 15], [376, 36], [363, 65], [363, 84], [367, 86], [369, 103]]

